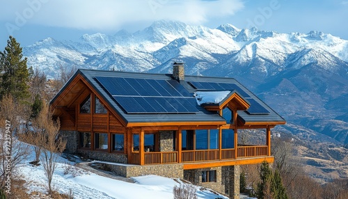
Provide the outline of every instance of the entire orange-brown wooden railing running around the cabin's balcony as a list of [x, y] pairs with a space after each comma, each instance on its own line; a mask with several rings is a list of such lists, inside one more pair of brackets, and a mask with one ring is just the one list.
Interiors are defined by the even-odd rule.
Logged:
[[[252, 157], [267, 157], [267, 145], [241, 145], [237, 147], [237, 159]], [[179, 161], [179, 152], [145, 152], [144, 164], [175, 164], [175, 163], [196, 163], [209, 161], [228, 161], [234, 160], [235, 149], [221, 149], [221, 157], [219, 157], [219, 149], [216, 150], [183, 150], [181, 153], [181, 161]], [[140, 164], [139, 152], [132, 152], [130, 164]]]

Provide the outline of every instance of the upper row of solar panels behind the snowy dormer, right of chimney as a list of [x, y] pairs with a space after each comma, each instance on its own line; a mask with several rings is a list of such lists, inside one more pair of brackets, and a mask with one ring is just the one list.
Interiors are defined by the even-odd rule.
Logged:
[[235, 83], [216, 83], [216, 82], [202, 82], [190, 81], [191, 85], [198, 90], [236, 90], [243, 97], [250, 97], [242, 88]]

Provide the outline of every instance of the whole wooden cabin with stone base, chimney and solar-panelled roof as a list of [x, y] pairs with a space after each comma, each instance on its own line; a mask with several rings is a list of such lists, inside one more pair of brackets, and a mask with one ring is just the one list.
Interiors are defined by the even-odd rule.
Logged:
[[[67, 151], [111, 161], [125, 177], [180, 177], [239, 197], [238, 165], [274, 161], [271, 129], [285, 120], [231, 78], [78, 70], [51, 102]], [[241, 129], [264, 129], [240, 145]]]

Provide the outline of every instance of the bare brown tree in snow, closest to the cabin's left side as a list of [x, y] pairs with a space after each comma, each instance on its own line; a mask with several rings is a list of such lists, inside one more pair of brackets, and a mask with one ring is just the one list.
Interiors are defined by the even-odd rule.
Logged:
[[38, 118], [33, 122], [35, 129], [40, 129], [40, 134], [35, 134], [41, 141], [41, 162], [48, 180], [48, 191], [52, 194], [52, 179], [57, 166], [58, 157], [65, 149], [66, 141], [59, 134], [60, 122], [54, 121], [48, 104], [40, 111]]

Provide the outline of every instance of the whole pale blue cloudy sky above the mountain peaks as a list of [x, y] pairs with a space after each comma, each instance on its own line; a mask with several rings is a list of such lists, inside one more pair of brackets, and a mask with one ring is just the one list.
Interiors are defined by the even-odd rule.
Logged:
[[315, 30], [348, 40], [348, 0], [0, 0], [0, 50], [8, 35], [26, 46], [48, 37], [134, 32], [159, 19], [280, 33]]

